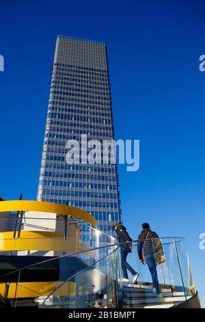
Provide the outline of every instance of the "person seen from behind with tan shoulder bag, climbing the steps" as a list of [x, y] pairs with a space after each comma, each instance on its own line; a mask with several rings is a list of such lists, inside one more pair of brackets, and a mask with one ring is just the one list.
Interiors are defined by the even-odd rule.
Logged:
[[161, 297], [156, 271], [156, 265], [158, 263], [155, 254], [157, 253], [158, 256], [164, 256], [163, 246], [161, 245], [161, 241], [156, 232], [150, 230], [150, 225], [148, 223], [143, 223], [142, 228], [143, 230], [141, 231], [141, 234], [139, 234], [137, 243], [139, 260], [141, 260], [142, 264], [148, 264], [148, 268], [152, 275], [153, 289], [156, 290], [157, 295]]

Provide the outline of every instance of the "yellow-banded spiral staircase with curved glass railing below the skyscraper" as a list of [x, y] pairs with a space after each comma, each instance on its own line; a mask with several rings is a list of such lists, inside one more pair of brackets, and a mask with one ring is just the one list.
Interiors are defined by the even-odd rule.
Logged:
[[41, 201], [1, 201], [0, 212], [9, 209], [16, 220], [0, 238], [1, 308], [200, 307], [182, 238], [161, 238], [166, 262], [157, 268], [159, 298], [146, 268], [139, 271], [137, 241], [128, 261], [137, 264], [139, 280], [125, 284], [120, 246], [94, 228], [90, 214]]

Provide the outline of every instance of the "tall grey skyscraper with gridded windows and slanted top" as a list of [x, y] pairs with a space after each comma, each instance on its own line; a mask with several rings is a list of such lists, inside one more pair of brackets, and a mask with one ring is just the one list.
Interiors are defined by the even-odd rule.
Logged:
[[114, 138], [107, 47], [57, 36], [37, 199], [82, 208], [111, 234], [122, 220], [117, 165], [68, 164], [66, 142], [82, 134]]

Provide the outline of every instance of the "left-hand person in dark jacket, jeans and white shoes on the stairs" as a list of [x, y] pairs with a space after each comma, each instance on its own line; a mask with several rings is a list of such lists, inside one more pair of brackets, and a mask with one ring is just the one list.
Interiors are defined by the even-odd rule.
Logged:
[[128, 253], [132, 251], [132, 238], [126, 232], [126, 227], [122, 225], [122, 223], [115, 224], [115, 232], [117, 234], [117, 239], [120, 244], [120, 253], [121, 253], [121, 260], [122, 260], [122, 271], [123, 271], [123, 279], [122, 282], [130, 282], [128, 280], [127, 269], [133, 274], [133, 283], [137, 282], [137, 278], [139, 277], [139, 273], [137, 273], [129, 264], [126, 262], [126, 257]]

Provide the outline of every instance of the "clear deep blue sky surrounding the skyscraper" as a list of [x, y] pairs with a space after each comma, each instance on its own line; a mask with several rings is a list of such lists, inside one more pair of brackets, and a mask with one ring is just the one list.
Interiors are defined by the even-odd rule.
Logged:
[[[203, 1], [1, 1], [0, 195], [36, 199], [58, 34], [107, 42], [116, 138], [141, 141], [141, 167], [119, 167], [124, 224], [186, 238], [205, 296]], [[204, 301], [205, 304], [205, 301]]]

